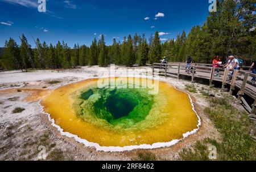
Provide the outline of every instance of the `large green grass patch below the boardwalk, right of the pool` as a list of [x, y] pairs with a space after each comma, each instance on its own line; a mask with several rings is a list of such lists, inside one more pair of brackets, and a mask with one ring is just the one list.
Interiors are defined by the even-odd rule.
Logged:
[[217, 160], [256, 160], [256, 142], [249, 135], [253, 123], [245, 111], [234, 108], [229, 101], [228, 98], [209, 98], [210, 108], [204, 109], [204, 113], [209, 115], [220, 132], [222, 140], [198, 141], [192, 149], [181, 151], [182, 160], [209, 160], [209, 145], [217, 148]]

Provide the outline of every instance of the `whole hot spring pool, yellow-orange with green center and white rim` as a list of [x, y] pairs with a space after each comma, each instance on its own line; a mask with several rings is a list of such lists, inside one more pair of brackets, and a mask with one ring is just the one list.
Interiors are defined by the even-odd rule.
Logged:
[[191, 98], [168, 83], [159, 82], [157, 94], [148, 94], [147, 88], [98, 88], [97, 83], [88, 79], [65, 85], [41, 101], [63, 134], [87, 146], [102, 151], [158, 148], [199, 128]]

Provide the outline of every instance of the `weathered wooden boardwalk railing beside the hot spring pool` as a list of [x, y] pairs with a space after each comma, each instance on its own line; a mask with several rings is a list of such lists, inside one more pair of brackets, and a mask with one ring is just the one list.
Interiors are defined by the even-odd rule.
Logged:
[[[210, 87], [214, 87], [213, 81], [219, 81], [222, 83], [222, 90], [228, 91], [226, 85], [230, 85], [229, 93], [232, 94], [234, 89], [237, 88], [238, 92], [237, 102], [242, 102], [246, 109], [251, 113], [251, 118], [256, 119], [256, 85], [251, 82], [252, 77], [256, 77], [256, 74], [251, 73], [247, 66], [242, 67], [243, 70], [233, 70], [233, 75], [230, 75], [230, 70], [223, 68], [213, 68], [209, 64], [193, 64], [191, 69], [186, 71], [184, 63], [168, 63], [160, 64], [154, 63], [152, 66], [153, 74], [155, 74], [156, 69], [159, 70], [159, 75], [166, 77], [175, 77], [180, 79], [181, 75], [190, 76], [191, 81], [194, 82], [196, 78], [209, 80]], [[218, 76], [217, 76], [217, 70]], [[189, 72], [189, 74], [188, 74]], [[244, 95], [253, 98], [253, 105], [248, 105], [243, 98]]]

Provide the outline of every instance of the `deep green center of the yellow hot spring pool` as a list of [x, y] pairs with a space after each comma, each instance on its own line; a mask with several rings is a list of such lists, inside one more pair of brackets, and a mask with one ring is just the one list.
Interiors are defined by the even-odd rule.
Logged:
[[129, 128], [146, 118], [154, 96], [148, 94], [148, 89], [90, 88], [82, 91], [79, 100], [77, 114], [85, 121], [98, 125], [105, 120]]

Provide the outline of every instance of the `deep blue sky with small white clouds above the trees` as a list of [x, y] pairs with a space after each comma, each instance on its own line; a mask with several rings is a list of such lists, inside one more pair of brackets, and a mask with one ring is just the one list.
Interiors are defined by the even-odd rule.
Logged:
[[145, 33], [148, 38], [155, 31], [164, 41], [203, 25], [209, 5], [208, 0], [47, 0], [44, 13], [38, 11], [38, 0], [0, 0], [0, 47], [9, 37], [20, 44], [22, 33], [33, 47], [30, 33], [41, 42], [64, 40], [71, 47], [90, 45], [101, 34], [107, 45], [113, 37], [122, 41]]

